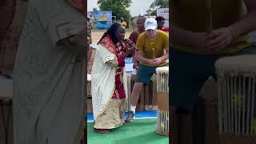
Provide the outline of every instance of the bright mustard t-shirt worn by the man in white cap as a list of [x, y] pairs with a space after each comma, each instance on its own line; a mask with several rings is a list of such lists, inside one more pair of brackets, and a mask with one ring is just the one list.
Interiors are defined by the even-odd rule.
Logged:
[[[136, 47], [142, 51], [144, 58], [159, 58], [165, 54], [165, 49], [169, 50], [169, 36], [162, 30], [157, 30], [156, 38], [152, 41], [144, 32], [138, 36]], [[142, 64], [148, 66], [145, 63]], [[166, 65], [166, 61], [159, 64], [159, 66], [164, 65]]]

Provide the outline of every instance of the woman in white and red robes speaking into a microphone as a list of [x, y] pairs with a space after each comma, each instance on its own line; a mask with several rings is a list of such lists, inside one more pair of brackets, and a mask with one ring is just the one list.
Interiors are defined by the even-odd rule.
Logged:
[[134, 45], [123, 40], [125, 29], [118, 23], [110, 26], [98, 42], [92, 67], [92, 101], [94, 130], [109, 133], [124, 123], [124, 103], [127, 95], [124, 59]]

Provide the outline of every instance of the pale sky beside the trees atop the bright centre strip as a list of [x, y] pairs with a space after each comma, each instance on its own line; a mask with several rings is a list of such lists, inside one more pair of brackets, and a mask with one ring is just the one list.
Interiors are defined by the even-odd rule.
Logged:
[[[134, 17], [141, 14], [141, 7], [143, 7], [144, 14], [146, 14], [146, 10], [150, 9], [152, 2], [154, 0], [132, 0], [128, 10], [130, 10], [131, 16]], [[94, 7], [98, 9], [97, 0], [87, 0], [87, 10], [92, 11]]]

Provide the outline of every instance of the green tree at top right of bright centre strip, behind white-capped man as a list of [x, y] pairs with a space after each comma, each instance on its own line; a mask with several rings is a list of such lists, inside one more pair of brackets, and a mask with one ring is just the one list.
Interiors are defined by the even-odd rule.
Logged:
[[146, 12], [150, 12], [150, 15], [157, 15], [158, 8], [168, 8], [169, 7], [169, 0], [154, 0], [154, 2], [150, 5], [150, 11], [147, 10]]

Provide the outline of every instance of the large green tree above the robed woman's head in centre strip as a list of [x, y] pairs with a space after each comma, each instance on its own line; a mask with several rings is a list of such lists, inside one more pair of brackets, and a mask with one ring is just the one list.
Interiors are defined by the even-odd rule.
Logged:
[[100, 10], [112, 10], [112, 15], [117, 19], [124, 18], [129, 21], [131, 18], [130, 7], [131, 0], [98, 0], [98, 7]]

